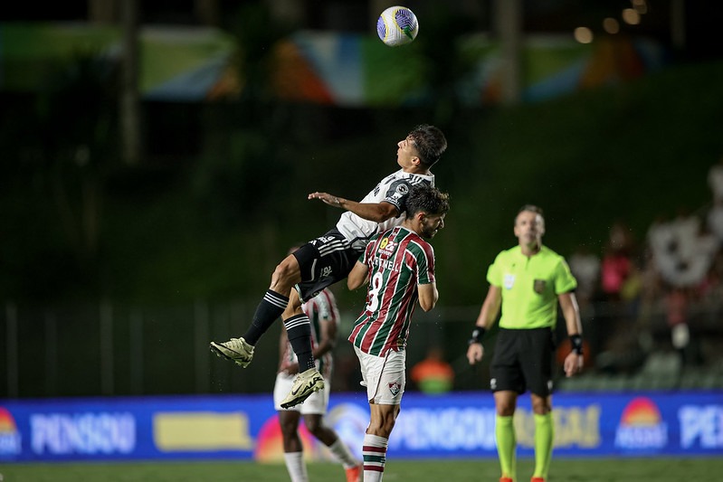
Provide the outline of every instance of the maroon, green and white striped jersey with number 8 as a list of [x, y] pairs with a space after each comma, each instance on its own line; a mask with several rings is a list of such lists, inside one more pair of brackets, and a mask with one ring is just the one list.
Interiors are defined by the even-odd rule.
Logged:
[[419, 298], [417, 285], [434, 282], [432, 245], [397, 226], [373, 237], [359, 260], [369, 267], [369, 288], [349, 341], [376, 356], [402, 350]]

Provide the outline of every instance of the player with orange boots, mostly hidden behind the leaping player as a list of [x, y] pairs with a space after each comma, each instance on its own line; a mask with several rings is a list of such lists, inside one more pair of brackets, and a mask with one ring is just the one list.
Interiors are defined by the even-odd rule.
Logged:
[[[295, 251], [292, 248], [289, 252]], [[281, 402], [293, 385], [294, 375], [299, 373], [299, 361], [294, 354], [286, 335], [281, 330], [279, 345], [279, 373], [273, 387], [274, 408], [279, 412], [281, 437], [283, 439], [284, 461], [289, 471], [291, 482], [309, 482], [309, 475], [304, 461], [304, 452], [299, 437], [299, 421], [303, 417], [309, 432], [327, 446], [329, 451], [344, 466], [347, 482], [358, 482], [361, 477], [361, 462], [355, 458], [344, 440], [339, 439], [336, 431], [324, 424], [324, 415], [328, 409], [328, 396], [331, 392], [333, 357], [332, 350], [336, 345], [339, 311], [334, 294], [328, 288], [321, 290], [319, 295], [309, 299], [301, 306], [311, 322], [311, 341], [317, 369], [324, 377], [324, 388], [312, 393], [301, 405], [290, 409], [281, 408]]]

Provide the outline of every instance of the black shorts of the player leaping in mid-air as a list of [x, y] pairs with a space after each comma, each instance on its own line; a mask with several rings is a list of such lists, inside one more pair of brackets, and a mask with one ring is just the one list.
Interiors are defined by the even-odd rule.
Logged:
[[301, 301], [309, 301], [322, 289], [347, 278], [362, 252], [354, 250], [336, 229], [294, 251], [301, 270], [301, 282], [296, 285]]

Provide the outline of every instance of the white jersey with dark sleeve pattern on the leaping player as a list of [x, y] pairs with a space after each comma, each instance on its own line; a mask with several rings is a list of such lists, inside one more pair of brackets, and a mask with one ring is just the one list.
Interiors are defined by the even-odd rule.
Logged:
[[366, 247], [366, 241], [377, 232], [384, 232], [398, 226], [404, 219], [406, 196], [409, 188], [415, 184], [434, 185], [434, 175], [420, 175], [405, 173], [399, 169], [394, 174], [387, 175], [379, 184], [359, 203], [392, 203], [395, 205], [399, 215], [389, 218], [385, 222], [368, 221], [357, 214], [347, 211], [343, 213], [337, 222], [337, 229], [355, 250], [362, 251]]

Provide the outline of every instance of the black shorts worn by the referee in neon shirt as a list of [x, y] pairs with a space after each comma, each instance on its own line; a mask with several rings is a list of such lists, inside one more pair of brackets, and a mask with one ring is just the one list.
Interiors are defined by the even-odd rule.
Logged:
[[550, 328], [499, 328], [490, 365], [492, 392], [552, 393], [552, 355], [555, 338]]

